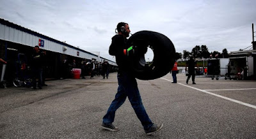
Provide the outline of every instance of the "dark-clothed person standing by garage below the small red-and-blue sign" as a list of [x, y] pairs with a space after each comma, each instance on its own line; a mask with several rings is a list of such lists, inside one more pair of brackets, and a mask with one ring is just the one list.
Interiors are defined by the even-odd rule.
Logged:
[[38, 78], [38, 88], [42, 89], [42, 53], [38, 45], [34, 47], [34, 52], [31, 59], [31, 69], [33, 72], [32, 84], [33, 89], [36, 89], [36, 78]]

